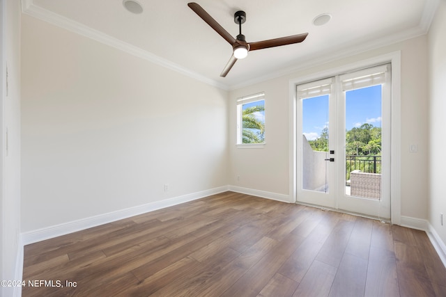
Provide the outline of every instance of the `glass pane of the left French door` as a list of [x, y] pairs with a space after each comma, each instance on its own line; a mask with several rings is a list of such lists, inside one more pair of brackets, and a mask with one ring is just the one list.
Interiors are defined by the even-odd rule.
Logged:
[[302, 188], [328, 193], [329, 95], [302, 99]]

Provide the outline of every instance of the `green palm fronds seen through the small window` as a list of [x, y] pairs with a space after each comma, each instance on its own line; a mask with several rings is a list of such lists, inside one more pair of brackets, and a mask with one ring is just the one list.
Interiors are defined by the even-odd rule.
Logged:
[[256, 117], [256, 113], [265, 111], [265, 106], [247, 107], [242, 114], [242, 143], [263, 143], [265, 123]]

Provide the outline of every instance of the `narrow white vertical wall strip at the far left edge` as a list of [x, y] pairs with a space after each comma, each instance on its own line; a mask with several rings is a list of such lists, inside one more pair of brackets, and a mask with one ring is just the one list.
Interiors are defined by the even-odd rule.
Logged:
[[[20, 243], [20, 1], [0, 1], [1, 42], [1, 280], [22, 274]], [[3, 31], [4, 29], [4, 31]], [[4, 35], [3, 35], [4, 34]], [[3, 52], [4, 51], [4, 52]], [[6, 65], [8, 79], [6, 82]], [[6, 84], [8, 91], [6, 91]], [[6, 133], [7, 131], [7, 133]], [[8, 136], [6, 136], [6, 134]], [[20, 288], [0, 287], [0, 296]]]

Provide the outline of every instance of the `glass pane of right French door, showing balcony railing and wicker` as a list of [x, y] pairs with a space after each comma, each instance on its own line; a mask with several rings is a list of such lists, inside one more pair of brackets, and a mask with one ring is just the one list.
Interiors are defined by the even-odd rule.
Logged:
[[382, 87], [345, 92], [346, 195], [381, 198]]

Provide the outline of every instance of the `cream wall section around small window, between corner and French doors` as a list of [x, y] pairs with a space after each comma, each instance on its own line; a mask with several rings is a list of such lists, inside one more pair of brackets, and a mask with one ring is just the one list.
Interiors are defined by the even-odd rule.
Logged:
[[[236, 147], [236, 99], [265, 93], [265, 145]], [[288, 195], [289, 186], [289, 86], [286, 78], [272, 79], [230, 92], [229, 99], [229, 184]]]

